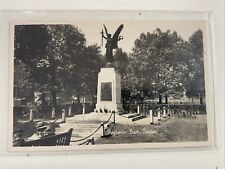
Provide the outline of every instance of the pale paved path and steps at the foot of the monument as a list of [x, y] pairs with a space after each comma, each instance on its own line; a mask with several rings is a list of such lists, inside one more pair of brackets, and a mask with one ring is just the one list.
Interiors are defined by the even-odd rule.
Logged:
[[[127, 118], [131, 114], [126, 115], [118, 115], [116, 114], [115, 121], [120, 124], [130, 124], [130, 125], [148, 125], [150, 124], [149, 118], [140, 119], [138, 121], [132, 122], [131, 118]], [[67, 117], [65, 123], [59, 124], [59, 127], [56, 128], [56, 133], [63, 133], [68, 131], [70, 128], [73, 128], [73, 133], [71, 137], [71, 145], [79, 145], [85, 142], [87, 139], [94, 138], [99, 139], [103, 135], [103, 128], [101, 127], [95, 134], [90, 136], [87, 139], [82, 141], [77, 141], [82, 138], [86, 138], [87, 136], [94, 133], [100, 126], [101, 123], [108, 121], [111, 113], [88, 113], [88, 114], [80, 114], [75, 115], [74, 117]], [[113, 122], [112, 114], [109, 122]], [[61, 122], [61, 119], [58, 119], [56, 122]], [[107, 124], [105, 125], [107, 128]]]

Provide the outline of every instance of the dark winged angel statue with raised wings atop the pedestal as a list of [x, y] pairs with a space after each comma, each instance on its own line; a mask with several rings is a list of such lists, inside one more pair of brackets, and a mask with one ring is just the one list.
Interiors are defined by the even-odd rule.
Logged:
[[[106, 39], [106, 45], [105, 45], [105, 48], [106, 48], [106, 66], [112, 66], [112, 63], [114, 61], [113, 59], [113, 49], [117, 49], [118, 48], [118, 41], [122, 40], [123, 37], [122, 36], [119, 36], [120, 32], [122, 31], [123, 29], [123, 24], [121, 24], [116, 32], [114, 33], [113, 36], [111, 36], [111, 34], [108, 33], [107, 31], [107, 28], [105, 25], [104, 26], [104, 30], [105, 30], [105, 33], [104, 31], [102, 30], [102, 43], [103, 43], [103, 38]], [[105, 36], [106, 35], [106, 36]]]

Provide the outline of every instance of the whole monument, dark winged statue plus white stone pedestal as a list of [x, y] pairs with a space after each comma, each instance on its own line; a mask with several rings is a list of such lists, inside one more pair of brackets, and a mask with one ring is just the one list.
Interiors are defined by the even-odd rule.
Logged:
[[[120, 73], [114, 68], [113, 62], [113, 49], [117, 49], [117, 42], [122, 40], [122, 36], [119, 36], [123, 29], [123, 25], [120, 25], [113, 37], [108, 33], [106, 26], [104, 26], [105, 34], [102, 30], [103, 38], [107, 40], [106, 48], [106, 65], [101, 68], [98, 73], [98, 88], [97, 88], [97, 104], [95, 112], [123, 112], [123, 106], [121, 103], [121, 77]], [[106, 36], [105, 36], [106, 35]]]

